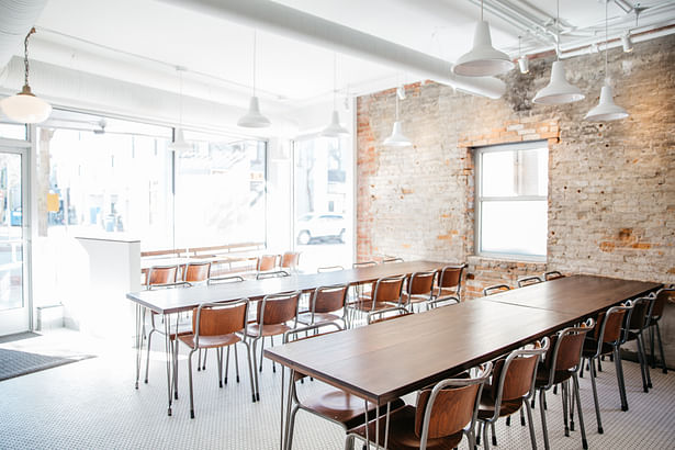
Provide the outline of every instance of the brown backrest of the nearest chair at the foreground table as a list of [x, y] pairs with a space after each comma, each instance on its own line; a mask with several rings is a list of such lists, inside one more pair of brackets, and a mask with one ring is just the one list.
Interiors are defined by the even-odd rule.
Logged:
[[[461, 431], [472, 419], [480, 384], [446, 387], [438, 393], [431, 405], [429, 439], [442, 438]], [[415, 410], [415, 435], [421, 436], [424, 415], [427, 409], [430, 389], [419, 392]]]

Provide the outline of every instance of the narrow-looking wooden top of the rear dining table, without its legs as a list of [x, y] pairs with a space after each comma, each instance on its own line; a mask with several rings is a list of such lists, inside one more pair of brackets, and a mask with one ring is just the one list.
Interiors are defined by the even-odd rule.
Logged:
[[335, 272], [248, 280], [238, 283], [131, 292], [126, 294], [126, 297], [156, 313], [171, 314], [192, 310], [204, 302], [227, 302], [243, 297], [258, 300], [280, 292], [308, 292], [331, 284], [365, 283], [383, 277], [408, 275], [414, 272], [437, 270], [445, 266], [448, 263], [437, 261], [392, 262]]

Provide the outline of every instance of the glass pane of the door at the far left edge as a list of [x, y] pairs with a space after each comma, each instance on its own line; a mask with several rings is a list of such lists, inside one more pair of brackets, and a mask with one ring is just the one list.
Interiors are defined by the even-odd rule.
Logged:
[[0, 145], [0, 336], [30, 329], [26, 155]]

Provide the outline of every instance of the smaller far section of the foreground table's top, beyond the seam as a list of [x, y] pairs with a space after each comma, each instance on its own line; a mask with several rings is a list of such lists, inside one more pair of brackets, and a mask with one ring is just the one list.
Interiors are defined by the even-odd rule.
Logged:
[[586, 317], [626, 300], [649, 294], [660, 283], [572, 275], [493, 294], [485, 300]]

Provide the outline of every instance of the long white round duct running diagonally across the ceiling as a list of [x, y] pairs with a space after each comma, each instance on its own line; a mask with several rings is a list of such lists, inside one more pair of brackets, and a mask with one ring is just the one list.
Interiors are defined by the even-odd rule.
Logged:
[[452, 65], [446, 60], [272, 1], [161, 1], [394, 67], [472, 94], [498, 99], [506, 91], [506, 85], [499, 79], [455, 76]]

